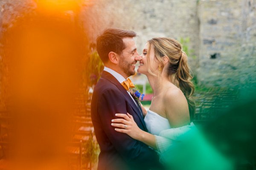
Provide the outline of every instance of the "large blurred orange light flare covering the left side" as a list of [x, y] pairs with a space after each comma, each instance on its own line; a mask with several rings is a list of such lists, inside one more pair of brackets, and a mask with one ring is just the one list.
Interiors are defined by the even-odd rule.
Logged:
[[[73, 4], [66, 1], [70, 3], [62, 4]], [[4, 47], [0, 78], [6, 79], [1, 85], [6, 96], [1, 99], [12, 118], [8, 139], [9, 160], [15, 162], [12, 169], [63, 170], [66, 165], [65, 147], [70, 141], [70, 118], [76, 111], [87, 41], [79, 24], [63, 16], [62, 12], [27, 14], [0, 37]]]

